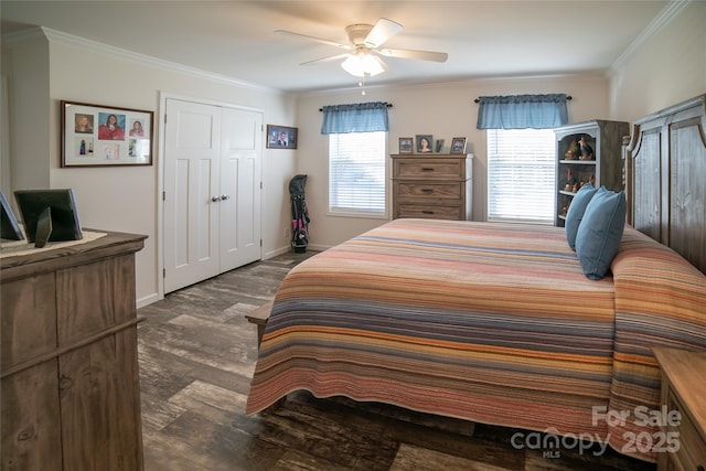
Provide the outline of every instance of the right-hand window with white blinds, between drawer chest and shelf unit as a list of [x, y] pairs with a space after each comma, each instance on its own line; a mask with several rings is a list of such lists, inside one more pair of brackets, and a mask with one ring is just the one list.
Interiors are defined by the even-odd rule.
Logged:
[[554, 224], [552, 129], [488, 130], [488, 220]]

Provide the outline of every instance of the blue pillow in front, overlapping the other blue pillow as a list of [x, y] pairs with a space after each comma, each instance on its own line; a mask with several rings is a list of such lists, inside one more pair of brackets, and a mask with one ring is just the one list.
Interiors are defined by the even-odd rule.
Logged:
[[576, 255], [584, 275], [599, 280], [610, 269], [625, 227], [628, 203], [623, 192], [598, 189], [586, 206], [576, 234]]

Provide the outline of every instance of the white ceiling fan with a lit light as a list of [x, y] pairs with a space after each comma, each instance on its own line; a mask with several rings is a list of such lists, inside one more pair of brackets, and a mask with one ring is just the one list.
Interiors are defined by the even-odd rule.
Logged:
[[341, 66], [349, 74], [356, 77], [365, 77], [365, 75], [374, 76], [387, 71], [387, 64], [383, 62], [383, 60], [379, 57], [381, 55], [385, 57], [446, 62], [449, 55], [442, 52], [382, 49], [382, 45], [388, 39], [400, 32], [402, 29], [402, 24], [396, 23], [392, 20], [387, 20], [386, 18], [381, 18], [379, 20], [377, 20], [375, 25], [360, 23], [351, 24], [345, 28], [345, 32], [349, 36], [349, 44], [285, 30], [277, 30], [275, 32], [306, 38], [308, 40], [345, 50], [346, 52], [344, 53], [308, 61], [300, 65], [315, 65], [323, 62], [344, 58], [344, 61], [341, 63]]

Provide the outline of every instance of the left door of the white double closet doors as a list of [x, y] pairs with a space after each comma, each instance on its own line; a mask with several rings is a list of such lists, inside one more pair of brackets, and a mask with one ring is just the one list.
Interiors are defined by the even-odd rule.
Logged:
[[164, 292], [220, 272], [221, 109], [167, 100]]

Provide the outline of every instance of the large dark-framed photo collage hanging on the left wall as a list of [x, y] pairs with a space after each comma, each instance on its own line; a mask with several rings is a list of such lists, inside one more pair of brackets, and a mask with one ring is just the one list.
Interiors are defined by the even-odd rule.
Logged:
[[151, 165], [154, 111], [61, 101], [62, 167]]

